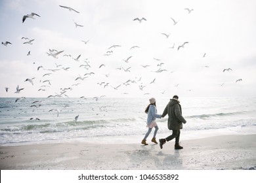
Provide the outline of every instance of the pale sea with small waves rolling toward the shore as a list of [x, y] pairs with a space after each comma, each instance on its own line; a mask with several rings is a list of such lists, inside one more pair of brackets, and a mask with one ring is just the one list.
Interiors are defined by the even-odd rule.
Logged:
[[[181, 132], [182, 140], [256, 134], [255, 97], [182, 97], [180, 101], [182, 116], [187, 121]], [[156, 99], [158, 114], [168, 102], [169, 98]], [[148, 104], [146, 97], [0, 98], [0, 145], [140, 143], [147, 131], [144, 110]], [[167, 116], [156, 122], [157, 137], [171, 134]]]

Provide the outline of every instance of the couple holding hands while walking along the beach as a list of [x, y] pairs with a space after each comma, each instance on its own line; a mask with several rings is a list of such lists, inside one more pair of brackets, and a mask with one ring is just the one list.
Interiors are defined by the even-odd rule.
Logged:
[[174, 95], [173, 98], [169, 101], [165, 109], [163, 110], [163, 114], [158, 114], [156, 109], [156, 99], [149, 99], [150, 104], [146, 107], [146, 114], [148, 114], [147, 125], [148, 131], [142, 140], [142, 144], [148, 145], [146, 143], [146, 138], [150, 135], [152, 128], [155, 127], [154, 136], [152, 142], [158, 144], [156, 141], [156, 133], [158, 133], [158, 124], [156, 124], [156, 118], [164, 118], [168, 114], [168, 129], [172, 130], [172, 135], [169, 135], [165, 139], [159, 139], [160, 148], [163, 148], [163, 144], [165, 142], [171, 141], [175, 139], [175, 149], [182, 149], [183, 147], [179, 144], [179, 139], [181, 135], [182, 124], [186, 124], [186, 120], [182, 116], [181, 105], [179, 101], [179, 97]]

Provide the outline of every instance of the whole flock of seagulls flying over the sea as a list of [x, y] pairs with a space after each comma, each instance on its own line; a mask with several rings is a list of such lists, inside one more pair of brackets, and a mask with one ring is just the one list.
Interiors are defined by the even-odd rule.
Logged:
[[[76, 12], [76, 13], [79, 13], [77, 10], [75, 10], [74, 8], [71, 8], [71, 7], [66, 7], [66, 6], [62, 6], [62, 5], [59, 5], [60, 8], [64, 8], [64, 9], [67, 9], [69, 11], [72, 11], [72, 12]], [[188, 14], [191, 14], [192, 11], [194, 11], [194, 9], [192, 8], [184, 8], [184, 10], [186, 10], [188, 12]], [[35, 17], [37, 18], [41, 18], [41, 16], [39, 16], [39, 14], [36, 14], [34, 12], [30, 13], [30, 14], [26, 14], [22, 17], [22, 23], [25, 22], [25, 20], [27, 20], [28, 18], [31, 18], [31, 19], [35, 19]], [[142, 22], [146, 22], [146, 18], [142, 17], [142, 18], [134, 18], [134, 19], [131, 19], [135, 22], [139, 22], [139, 23], [142, 23]], [[173, 25], [175, 25], [175, 27], [179, 27], [178, 24], [178, 21], [175, 20], [174, 18], [171, 18], [171, 20], [173, 21]], [[74, 24], [75, 24], [75, 27], [84, 27], [84, 25], [81, 25], [81, 24], [78, 24], [77, 22], [75, 22], [73, 20]], [[146, 23], [145, 23], [146, 24]], [[163, 35], [167, 40], [170, 39], [170, 36], [171, 36], [171, 33], [161, 33], [161, 35]], [[33, 44], [33, 42], [35, 41], [35, 39], [29, 39], [28, 37], [22, 37], [22, 40], [24, 40], [25, 42], [23, 42], [23, 44]], [[85, 40], [81, 40], [81, 42], [83, 42], [84, 44], [90, 44], [91, 41], [90, 39], [87, 39], [86, 41]], [[12, 44], [11, 42], [9, 41], [5, 41], [5, 42], [2, 42], [2, 44], [4, 46], [8, 46], [9, 44]], [[110, 44], [111, 45], [111, 44]], [[177, 48], [177, 50], [181, 50], [181, 48], [183, 49], [186, 49], [185, 48], [185, 45], [190, 45], [188, 41], [185, 41], [185, 42], [182, 42], [182, 44], [180, 44], [179, 46], [175, 46], [175, 43], [173, 43], [172, 46], [170, 46], [169, 48], [173, 49]], [[116, 51], [115, 49], [116, 48], [121, 48], [122, 46], [119, 45], [119, 44], [112, 44], [112, 46], [108, 47], [106, 49], [106, 53], [105, 54], [102, 54], [102, 56], [113, 56], [114, 55], [114, 52]], [[139, 50], [140, 49], [140, 46], [131, 46], [129, 47], [129, 50]], [[181, 51], [179, 51], [181, 52]], [[65, 53], [65, 54], [64, 54]], [[81, 54], [77, 54], [77, 56], [73, 57], [71, 54], [66, 54], [66, 52], [64, 52], [64, 50], [55, 50], [55, 49], [49, 49], [47, 52], [46, 52], [47, 56], [51, 57], [51, 58], [54, 58], [54, 59], [58, 59], [60, 57], [65, 57], [65, 58], [70, 58], [74, 61], [76, 61], [77, 63], [81, 63], [79, 65], [80, 68], [83, 68], [85, 69], [85, 71], [88, 71], [87, 73], [83, 73], [83, 75], [80, 75], [80, 74], [76, 74], [75, 78], [74, 78], [74, 84], [72, 84], [72, 86], [68, 86], [67, 88], [62, 88], [59, 92], [56, 92], [54, 95], [49, 95], [47, 98], [49, 97], [68, 97], [68, 92], [69, 91], [72, 91], [74, 90], [75, 86], [78, 86], [79, 84], [81, 83], [77, 83], [78, 81], [79, 82], [83, 82], [85, 80], [87, 80], [87, 78], [93, 76], [93, 75], [96, 75], [96, 71], [90, 71], [91, 69], [91, 64], [90, 64], [90, 61], [88, 61], [89, 58], [87, 59], [83, 59], [82, 58], [82, 55]], [[31, 56], [32, 53], [31, 51], [28, 52], [27, 56]], [[203, 54], [202, 56], [203, 58], [206, 57], [206, 53]], [[163, 68], [165, 67], [165, 63], [163, 61], [161, 61], [161, 59], [159, 58], [152, 58], [156, 61], [156, 69], [154, 71], [151, 71], [151, 72], [154, 72], [154, 73], [173, 73], [173, 71], [168, 71], [168, 69], [166, 68]], [[125, 73], [132, 73], [132, 69], [133, 67], [131, 67], [131, 65], [129, 65], [129, 63], [133, 62], [135, 60], [135, 56], [133, 55], [128, 55], [127, 57], [121, 59], [122, 62], [120, 62], [120, 67], [117, 67], [116, 70], [119, 70], [119, 71], [123, 71]], [[56, 64], [56, 63], [55, 63]], [[98, 65], [98, 68], [97, 69], [103, 69], [104, 67], [106, 68], [106, 64], [107, 63], [101, 63], [100, 65]], [[123, 66], [125, 65], [125, 66]], [[150, 67], [152, 67], [152, 65], [140, 65], [141, 69], [148, 69]], [[205, 66], [205, 67], [209, 67], [209, 66]], [[51, 85], [52, 85], [52, 81], [50, 79], [46, 79], [47, 77], [51, 77], [54, 73], [58, 72], [58, 71], [70, 71], [70, 67], [64, 67], [62, 66], [62, 64], [56, 64], [56, 68], [55, 69], [46, 69], [43, 65], [39, 65], [37, 67], [37, 72], [39, 71], [48, 71], [48, 73], [43, 73], [43, 76], [40, 80], [40, 83], [41, 84], [44, 84], [43, 86], [41, 86], [39, 88], [39, 92], [45, 92], [47, 91], [47, 88], [50, 88]], [[223, 70], [223, 73], [226, 72], [226, 71], [233, 71], [232, 69], [228, 68], [228, 69], [224, 69]], [[104, 76], [106, 78], [110, 78], [111, 73], [112, 71], [110, 71], [109, 73], [106, 73], [104, 74]], [[150, 82], [148, 83], [144, 83], [142, 82], [142, 79], [143, 78], [135, 78], [135, 79], [129, 79], [121, 84], [110, 84], [110, 82], [98, 82], [98, 85], [102, 86], [102, 88], [108, 88], [108, 87], [111, 87], [113, 88], [114, 90], [119, 90], [119, 88], [121, 88], [122, 86], [130, 86], [131, 84], [137, 84], [138, 85], [138, 88], [140, 91], [144, 91], [145, 88], [147, 87], [147, 84], [156, 84], [156, 82], [158, 82], [158, 79], [157, 78], [152, 78], [152, 80], [150, 80]], [[24, 82], [29, 82], [30, 84], [32, 84], [32, 86], [34, 86], [34, 82], [35, 82], [35, 78], [26, 78], [26, 80], [24, 80]], [[242, 78], [236, 80], [236, 82], [241, 82], [242, 81]], [[173, 84], [174, 85], [174, 84]], [[175, 87], [178, 87], [179, 84], [175, 84]], [[223, 86], [223, 84], [222, 84]], [[22, 90], [24, 90], [24, 88], [20, 88], [19, 85], [17, 85], [16, 87], [16, 92], [14, 93], [20, 93]], [[9, 92], [9, 87], [6, 87], [5, 88], [5, 91], [6, 92]], [[189, 90], [191, 91], [191, 90]], [[165, 90], [163, 90], [163, 92], [161, 93], [165, 93]], [[125, 92], [125, 94], [128, 94]], [[150, 93], [144, 93], [144, 95], [148, 95]], [[98, 100], [99, 97], [96, 97], [96, 99]], [[20, 97], [18, 99], [16, 99], [16, 102], [17, 101], [20, 101], [21, 99], [25, 99], [24, 97]], [[33, 107], [40, 107], [39, 105], [34, 105]], [[57, 116], [59, 115], [59, 112], [60, 110], [56, 109], [56, 108], [53, 108], [51, 110], [49, 110], [49, 112], [56, 112]], [[78, 115], [79, 116], [79, 115]], [[75, 122], [77, 121], [78, 119], [78, 116], [75, 117]], [[39, 120], [38, 118], [36, 120]]]

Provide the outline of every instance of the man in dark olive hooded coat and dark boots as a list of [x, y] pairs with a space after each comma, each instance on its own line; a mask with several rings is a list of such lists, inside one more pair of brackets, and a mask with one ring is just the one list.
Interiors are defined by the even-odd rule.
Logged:
[[175, 138], [175, 149], [182, 149], [183, 147], [179, 145], [179, 140], [182, 124], [186, 124], [186, 120], [182, 116], [181, 105], [177, 95], [173, 96], [173, 99], [169, 101], [165, 110], [163, 110], [163, 114], [161, 114], [162, 118], [165, 117], [166, 114], [168, 114], [168, 129], [172, 130], [173, 134], [165, 139], [159, 139], [160, 148], [163, 148], [165, 142]]

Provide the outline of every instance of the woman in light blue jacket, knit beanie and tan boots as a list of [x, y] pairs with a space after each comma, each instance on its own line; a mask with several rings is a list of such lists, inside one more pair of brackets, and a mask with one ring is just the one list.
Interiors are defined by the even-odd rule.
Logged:
[[149, 99], [149, 101], [150, 101], [150, 104], [148, 105], [148, 107], [146, 107], [146, 110], [145, 110], [146, 114], [148, 114], [148, 118], [146, 122], [146, 127], [148, 127], [148, 132], [146, 133], [144, 139], [141, 142], [144, 145], [148, 145], [146, 143], [146, 138], [148, 137], [148, 135], [150, 135], [153, 127], [155, 127], [155, 131], [154, 131], [153, 139], [151, 141], [158, 144], [158, 142], [156, 142], [156, 133], [158, 133], [158, 124], [156, 124], [156, 118], [161, 118], [161, 115], [158, 114], [158, 111], [156, 109], [156, 99], [151, 98]]

